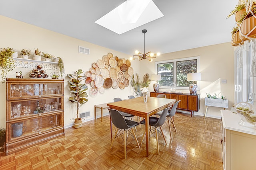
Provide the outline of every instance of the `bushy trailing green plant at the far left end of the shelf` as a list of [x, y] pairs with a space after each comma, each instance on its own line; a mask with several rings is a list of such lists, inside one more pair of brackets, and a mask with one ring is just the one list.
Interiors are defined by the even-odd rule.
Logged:
[[0, 52], [0, 70], [2, 71], [1, 76], [4, 82], [6, 80], [7, 73], [15, 68], [14, 61], [12, 59], [13, 53], [15, 53], [15, 51], [9, 47], [3, 48]]

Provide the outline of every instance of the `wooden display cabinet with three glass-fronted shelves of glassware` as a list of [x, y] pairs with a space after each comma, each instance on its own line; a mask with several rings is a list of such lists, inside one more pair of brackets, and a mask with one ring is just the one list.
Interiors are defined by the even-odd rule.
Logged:
[[64, 135], [64, 79], [6, 78], [6, 155]]

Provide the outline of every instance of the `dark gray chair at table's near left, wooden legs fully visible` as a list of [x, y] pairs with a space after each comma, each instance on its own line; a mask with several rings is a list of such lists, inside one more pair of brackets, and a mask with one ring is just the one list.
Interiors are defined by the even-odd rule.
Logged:
[[124, 131], [124, 158], [126, 159], [126, 136], [127, 137], [129, 136], [131, 130], [132, 130], [132, 135], [134, 136], [135, 141], [136, 141], [138, 147], [140, 148], [140, 144], [138, 143], [138, 140], [136, 138], [134, 130], [132, 129], [133, 127], [136, 127], [137, 125], [139, 125], [139, 123], [136, 121], [124, 119], [124, 117], [122, 116], [120, 111], [118, 111], [116, 109], [108, 108], [108, 110], [110, 113], [111, 120], [116, 127], [115, 136], [111, 143], [110, 149], [112, 149], [112, 146], [113, 146], [115, 138], [117, 137], [116, 134], [118, 133], [118, 131], [119, 131], [120, 135], [121, 135], [122, 131]]

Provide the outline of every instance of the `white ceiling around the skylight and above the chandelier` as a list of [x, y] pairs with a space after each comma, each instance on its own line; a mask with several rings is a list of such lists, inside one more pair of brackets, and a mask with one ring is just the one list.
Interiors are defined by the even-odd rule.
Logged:
[[128, 55], [170, 53], [231, 41], [234, 17], [226, 19], [238, 1], [153, 0], [164, 17], [118, 35], [96, 20], [125, 0], [5, 0], [0, 15], [107, 47]]

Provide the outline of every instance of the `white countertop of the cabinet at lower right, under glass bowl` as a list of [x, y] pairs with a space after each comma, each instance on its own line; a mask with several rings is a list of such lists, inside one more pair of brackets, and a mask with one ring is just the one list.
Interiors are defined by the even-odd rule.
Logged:
[[233, 113], [230, 110], [221, 110], [220, 112], [224, 129], [256, 135], [256, 129], [254, 125], [248, 123], [247, 121], [242, 126], [238, 125], [238, 122], [241, 119], [238, 114]]

